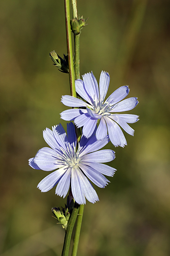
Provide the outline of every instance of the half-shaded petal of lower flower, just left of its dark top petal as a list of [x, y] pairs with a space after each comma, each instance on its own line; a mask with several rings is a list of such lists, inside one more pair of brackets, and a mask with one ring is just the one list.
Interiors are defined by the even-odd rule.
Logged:
[[54, 133], [54, 137], [56, 139], [56, 141], [58, 142], [58, 144], [60, 146], [62, 146], [65, 150], [67, 150], [67, 146], [68, 146], [68, 139], [67, 139], [67, 134], [63, 128], [63, 126], [60, 125], [55, 125], [54, 127], [52, 127], [53, 133]]

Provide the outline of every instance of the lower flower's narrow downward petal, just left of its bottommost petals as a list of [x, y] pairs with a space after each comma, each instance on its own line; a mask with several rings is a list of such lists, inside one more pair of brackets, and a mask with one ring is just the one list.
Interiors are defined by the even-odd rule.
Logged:
[[68, 168], [67, 171], [62, 176], [62, 178], [60, 179], [60, 181], [58, 182], [58, 185], [55, 190], [55, 194], [61, 197], [63, 196], [63, 198], [65, 198], [70, 186], [70, 177], [71, 177], [71, 168]]

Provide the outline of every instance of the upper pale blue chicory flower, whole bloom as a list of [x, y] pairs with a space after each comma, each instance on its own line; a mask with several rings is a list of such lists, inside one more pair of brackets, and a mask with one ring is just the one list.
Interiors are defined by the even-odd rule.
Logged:
[[84, 74], [83, 80], [76, 80], [75, 89], [86, 102], [69, 95], [63, 96], [62, 102], [66, 106], [85, 108], [65, 110], [61, 113], [61, 118], [67, 121], [74, 120], [74, 123], [78, 128], [83, 126], [83, 134], [87, 138], [94, 132], [97, 121], [100, 120], [96, 138], [98, 140], [104, 139], [108, 130], [111, 142], [115, 146], [124, 147], [124, 145], [127, 145], [127, 142], [119, 125], [127, 133], [133, 135], [134, 130], [127, 123], [137, 122], [138, 116], [132, 114], [111, 113], [131, 110], [135, 108], [138, 101], [135, 97], [121, 101], [129, 94], [128, 86], [121, 86], [104, 101], [109, 81], [109, 74], [103, 71], [100, 75], [99, 87], [92, 72]]

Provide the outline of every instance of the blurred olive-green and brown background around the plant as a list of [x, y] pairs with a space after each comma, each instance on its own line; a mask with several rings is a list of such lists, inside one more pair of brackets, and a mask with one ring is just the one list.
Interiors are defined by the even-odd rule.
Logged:
[[[117, 169], [100, 201], [86, 203], [78, 255], [170, 255], [170, 1], [78, 0], [89, 17], [81, 33], [81, 75], [111, 76], [108, 95], [124, 84], [140, 115], [125, 134], [128, 146], [109, 163]], [[60, 256], [64, 230], [51, 207], [64, 206], [55, 189], [41, 193], [47, 173], [28, 159], [46, 146], [42, 131], [66, 122], [61, 96], [68, 74], [49, 53], [66, 54], [64, 1], [0, 2], [0, 255]]]

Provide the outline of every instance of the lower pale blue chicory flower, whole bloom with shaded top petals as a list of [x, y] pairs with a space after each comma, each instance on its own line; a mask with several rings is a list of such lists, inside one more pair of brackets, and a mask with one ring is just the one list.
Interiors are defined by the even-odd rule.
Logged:
[[65, 197], [71, 179], [71, 190], [77, 203], [86, 203], [85, 197], [92, 203], [98, 201], [98, 195], [89, 180], [98, 187], [104, 187], [109, 181], [103, 174], [113, 176], [116, 171], [103, 164], [112, 161], [115, 152], [97, 151], [108, 143], [108, 136], [100, 141], [94, 134], [88, 139], [82, 136], [76, 150], [77, 137], [74, 124], [70, 123], [67, 124], [67, 134], [62, 125], [56, 125], [52, 127], [52, 131], [46, 128], [43, 137], [51, 148], [41, 148], [34, 158], [29, 159], [29, 165], [44, 171], [59, 169], [46, 176], [38, 184], [38, 188], [47, 192], [58, 183], [55, 193]]

